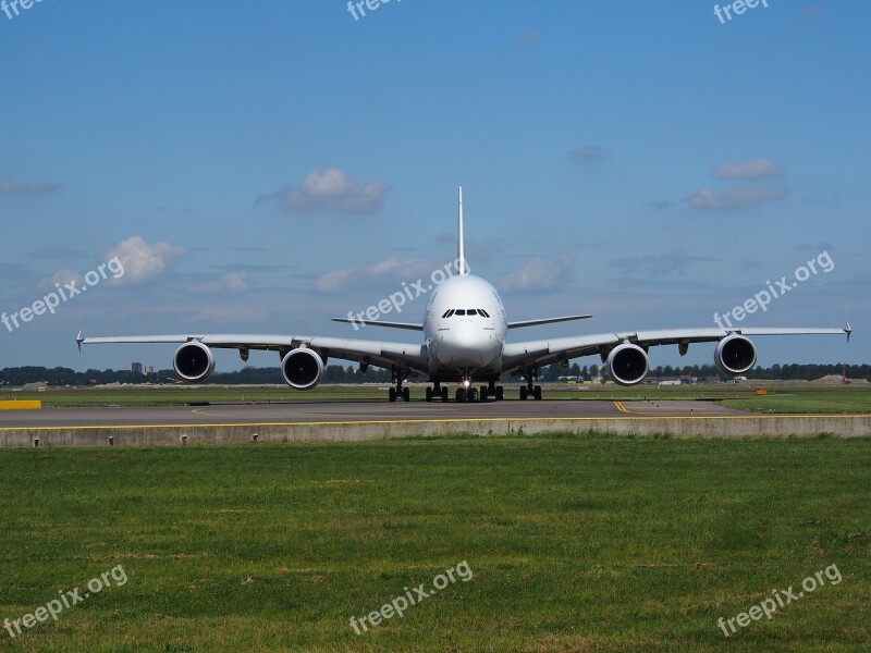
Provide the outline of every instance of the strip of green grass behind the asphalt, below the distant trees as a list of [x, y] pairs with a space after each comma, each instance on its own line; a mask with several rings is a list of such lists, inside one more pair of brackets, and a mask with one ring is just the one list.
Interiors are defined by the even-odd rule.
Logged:
[[[57, 387], [48, 392], [10, 392], [3, 398], [39, 399], [45, 406], [183, 406], [188, 403], [226, 402], [310, 402], [385, 399], [387, 385], [319, 385], [308, 392], [295, 392], [285, 385], [220, 386], [168, 385], [106, 387]], [[758, 387], [769, 394], [758, 396]], [[453, 393], [451, 394], [453, 396]], [[517, 398], [517, 386], [506, 385], [505, 396]], [[871, 414], [871, 384], [855, 385], [678, 385], [636, 387], [608, 385], [554, 384], [545, 386], [548, 399], [704, 399], [717, 401], [739, 410], [758, 412]], [[412, 398], [424, 398], [424, 386], [412, 386]]]

